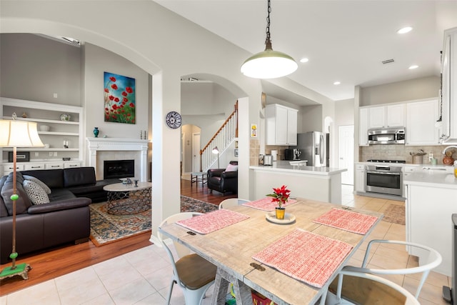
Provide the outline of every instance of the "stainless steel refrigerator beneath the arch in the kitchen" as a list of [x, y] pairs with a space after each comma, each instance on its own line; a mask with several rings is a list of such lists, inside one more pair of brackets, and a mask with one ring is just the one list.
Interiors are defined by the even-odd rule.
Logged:
[[297, 135], [297, 146], [292, 149], [301, 151], [300, 159], [308, 160], [308, 166], [328, 166], [329, 135], [319, 131], [309, 131]]

